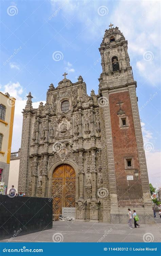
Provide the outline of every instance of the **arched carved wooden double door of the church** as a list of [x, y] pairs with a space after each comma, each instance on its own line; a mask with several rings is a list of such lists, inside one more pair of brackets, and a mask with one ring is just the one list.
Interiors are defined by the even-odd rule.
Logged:
[[58, 166], [53, 172], [53, 213], [62, 207], [75, 207], [75, 171], [70, 165]]

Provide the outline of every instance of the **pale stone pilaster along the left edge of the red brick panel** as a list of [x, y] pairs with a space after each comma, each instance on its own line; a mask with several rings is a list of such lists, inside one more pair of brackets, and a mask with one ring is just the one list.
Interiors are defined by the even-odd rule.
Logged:
[[104, 89], [102, 95], [107, 102], [100, 107], [103, 188], [109, 192], [107, 197], [103, 198], [103, 222], [119, 223], [108, 89]]

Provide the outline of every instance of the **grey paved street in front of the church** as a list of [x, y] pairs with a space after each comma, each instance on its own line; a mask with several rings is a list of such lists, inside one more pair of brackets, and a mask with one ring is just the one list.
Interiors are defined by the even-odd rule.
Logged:
[[56, 221], [52, 229], [19, 236], [12, 242], [144, 242], [143, 236], [146, 241], [160, 242], [161, 219], [157, 216], [155, 220], [154, 225], [140, 223], [140, 228], [134, 229], [127, 224]]

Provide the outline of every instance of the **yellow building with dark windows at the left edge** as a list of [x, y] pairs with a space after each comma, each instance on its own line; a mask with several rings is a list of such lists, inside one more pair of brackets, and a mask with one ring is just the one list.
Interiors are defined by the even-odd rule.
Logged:
[[0, 182], [8, 186], [15, 98], [0, 92]]

